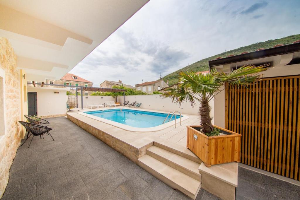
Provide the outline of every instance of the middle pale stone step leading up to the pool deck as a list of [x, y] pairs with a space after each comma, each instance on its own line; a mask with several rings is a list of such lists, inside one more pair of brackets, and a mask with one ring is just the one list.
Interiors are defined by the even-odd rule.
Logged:
[[184, 158], [157, 146], [148, 148], [146, 150], [146, 154], [178, 170], [179, 172], [182, 172], [185, 175], [196, 179], [197, 181], [201, 181], [201, 175], [199, 174], [199, 163], [191, 161], [187, 158]]

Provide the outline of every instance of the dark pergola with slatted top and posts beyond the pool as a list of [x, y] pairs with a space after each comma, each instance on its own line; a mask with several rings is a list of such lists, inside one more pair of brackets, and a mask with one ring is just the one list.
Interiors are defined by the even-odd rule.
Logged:
[[[52, 85], [52, 86], [60, 86], [60, 87], [70, 87], [70, 85], [58, 85], [58, 84], [48, 84], [48, 83], [35, 83], [32, 81], [31, 83], [33, 86], [35, 85], [41, 85], [41, 87], [44, 87], [44, 85]], [[97, 88], [97, 87], [84, 87], [84, 86], [74, 86], [76, 88], [76, 97], [78, 98], [78, 89], [80, 88], [80, 94], [81, 94], [81, 109], [83, 110], [83, 95], [82, 91], [99, 91], [99, 92], [123, 92], [123, 103], [125, 102], [125, 89], [116, 89], [116, 88]], [[78, 108], [78, 105], [77, 105]]]

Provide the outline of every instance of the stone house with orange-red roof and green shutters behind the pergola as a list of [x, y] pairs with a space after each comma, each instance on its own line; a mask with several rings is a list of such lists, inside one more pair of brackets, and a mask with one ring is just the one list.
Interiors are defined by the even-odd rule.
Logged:
[[[47, 87], [54, 87], [54, 88], [64, 88], [63, 86], [55, 86], [55, 84], [56, 85], [70, 85], [70, 88], [74, 88], [74, 86], [93, 87], [93, 82], [83, 79], [83, 78], [76, 76], [75, 74], [71, 74], [71, 73], [65, 74], [59, 80], [46, 79], [46, 83], [54, 84], [53, 86], [47, 85]], [[83, 95], [90, 95], [91, 93], [92, 93], [91, 91], [83, 91]]]

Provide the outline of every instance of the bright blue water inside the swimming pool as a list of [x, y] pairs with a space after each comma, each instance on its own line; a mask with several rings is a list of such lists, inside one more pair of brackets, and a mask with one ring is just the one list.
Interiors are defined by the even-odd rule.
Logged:
[[[88, 111], [85, 113], [138, 128], [159, 126], [164, 122], [164, 119], [167, 117], [167, 114], [165, 113], [147, 112], [130, 109], [98, 110]], [[171, 116], [172, 115], [170, 114], [165, 123], [167, 123], [170, 120]], [[179, 115], [176, 115], [176, 118], [179, 119]], [[173, 121], [174, 119], [175, 116], [173, 116], [170, 121]]]

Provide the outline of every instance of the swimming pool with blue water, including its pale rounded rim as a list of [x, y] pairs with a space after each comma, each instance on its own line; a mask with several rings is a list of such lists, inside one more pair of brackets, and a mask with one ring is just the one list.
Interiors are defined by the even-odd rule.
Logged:
[[[132, 108], [120, 109], [101, 109], [96, 111], [81, 112], [80, 115], [122, 128], [124, 130], [134, 132], [152, 132], [162, 130], [164, 128], [174, 126], [175, 116], [172, 114], [166, 119], [168, 113], [164, 112], [151, 112], [144, 110], [137, 110]], [[176, 113], [177, 114], [177, 113]], [[172, 118], [171, 118], [172, 117]], [[183, 116], [182, 121], [187, 119]], [[179, 123], [179, 115], [176, 115], [176, 124]], [[170, 122], [169, 122], [170, 120]]]

